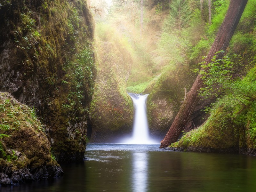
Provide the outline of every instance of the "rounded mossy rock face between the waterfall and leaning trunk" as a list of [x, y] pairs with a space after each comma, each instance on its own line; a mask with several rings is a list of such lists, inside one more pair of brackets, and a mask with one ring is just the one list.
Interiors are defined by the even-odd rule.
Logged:
[[169, 130], [184, 100], [184, 88], [189, 90], [195, 78], [189, 71], [188, 66], [168, 67], [144, 91], [149, 93], [148, 122], [152, 135], [163, 138]]

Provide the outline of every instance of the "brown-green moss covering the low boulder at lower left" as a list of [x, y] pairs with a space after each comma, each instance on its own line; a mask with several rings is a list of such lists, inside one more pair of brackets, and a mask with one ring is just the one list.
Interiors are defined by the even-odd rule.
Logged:
[[17, 169], [57, 165], [51, 158], [50, 143], [44, 133], [44, 126], [37, 119], [34, 110], [21, 104], [7, 92], [0, 92], [0, 105], [3, 106], [0, 110], [0, 124], [8, 125], [8, 129], [0, 129], [1, 133], [8, 135], [1, 140], [6, 154], [10, 153], [9, 149], [24, 154], [21, 158], [15, 158], [15, 155], [9, 159], [3, 157], [5, 162]]

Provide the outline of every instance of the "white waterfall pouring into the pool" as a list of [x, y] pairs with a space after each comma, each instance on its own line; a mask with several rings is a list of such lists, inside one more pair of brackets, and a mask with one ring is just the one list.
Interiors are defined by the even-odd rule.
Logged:
[[134, 120], [132, 138], [125, 139], [125, 144], [159, 144], [149, 137], [147, 107], [148, 94], [128, 93], [133, 101]]

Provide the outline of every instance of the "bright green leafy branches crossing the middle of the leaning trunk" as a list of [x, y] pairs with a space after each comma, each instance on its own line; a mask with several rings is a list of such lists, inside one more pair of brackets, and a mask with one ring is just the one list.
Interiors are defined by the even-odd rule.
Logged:
[[[205, 87], [200, 89], [201, 96], [206, 98], [212, 95], [219, 96], [220, 94], [232, 94], [235, 100], [246, 105], [246, 101], [255, 100], [253, 95], [256, 91], [256, 81], [252, 72], [241, 81], [241, 78], [232, 75], [234, 71], [234, 62], [241, 58], [239, 55], [226, 55], [223, 59], [216, 60], [217, 54], [212, 59], [212, 63], [201, 65], [203, 68], [199, 74], [202, 75]], [[236, 75], [236, 74], [234, 74]]]

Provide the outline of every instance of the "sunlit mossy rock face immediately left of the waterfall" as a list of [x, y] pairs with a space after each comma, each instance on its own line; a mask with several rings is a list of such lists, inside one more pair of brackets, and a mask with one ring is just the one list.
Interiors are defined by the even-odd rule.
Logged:
[[99, 41], [98, 75], [92, 99], [92, 142], [113, 142], [132, 132], [132, 99], [125, 91], [130, 54], [111, 42]]

